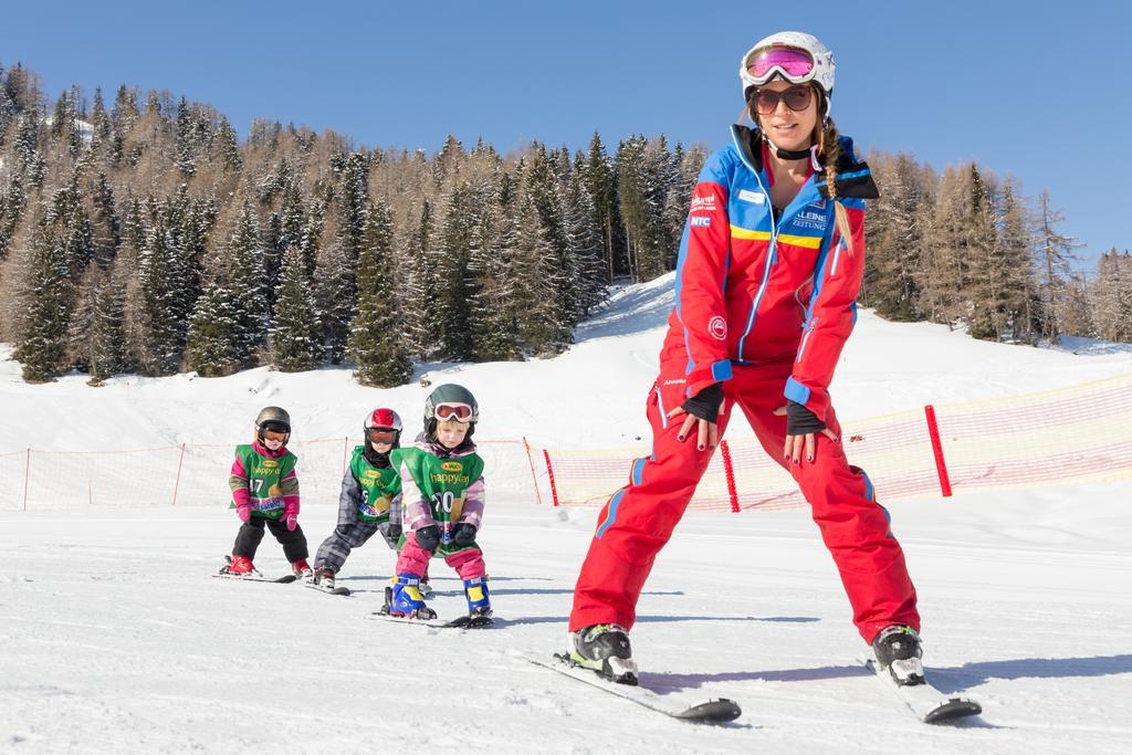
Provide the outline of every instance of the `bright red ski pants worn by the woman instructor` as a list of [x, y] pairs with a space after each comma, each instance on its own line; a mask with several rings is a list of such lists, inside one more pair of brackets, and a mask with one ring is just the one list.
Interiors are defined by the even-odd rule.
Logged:
[[[668, 420], [664, 414], [685, 401], [685, 385], [683, 375], [667, 378], [666, 371], [662, 366], [648, 401], [653, 454], [634, 462], [629, 484], [614, 494], [598, 517], [574, 590], [571, 632], [594, 624], [633, 626], [653, 559], [684, 515], [711, 457], [710, 451], [697, 451], [694, 431], [684, 443], [676, 439], [684, 417]], [[738, 405], [766, 453], [794, 475], [841, 573], [854, 624], [865, 642], [890, 624], [919, 629], [916, 590], [903, 551], [865, 473], [849, 465], [840, 443], [823, 435], [816, 436], [813, 462], [783, 460], [786, 417], [774, 410], [786, 403], [782, 389], [788, 376], [789, 363], [737, 366], [723, 384], [720, 437]], [[832, 409], [826, 426], [840, 438]]]

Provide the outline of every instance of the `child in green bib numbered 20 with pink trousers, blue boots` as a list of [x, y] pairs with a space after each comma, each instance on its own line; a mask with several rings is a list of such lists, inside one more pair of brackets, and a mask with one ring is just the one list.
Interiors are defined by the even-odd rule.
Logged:
[[475, 533], [483, 520], [483, 460], [472, 434], [479, 406], [468, 388], [446, 384], [424, 400], [424, 431], [410, 448], [391, 454], [401, 474], [405, 533], [397, 575], [384, 612], [436, 618], [420, 592], [429, 559], [439, 554], [464, 581], [468, 626], [491, 624], [483, 554]]

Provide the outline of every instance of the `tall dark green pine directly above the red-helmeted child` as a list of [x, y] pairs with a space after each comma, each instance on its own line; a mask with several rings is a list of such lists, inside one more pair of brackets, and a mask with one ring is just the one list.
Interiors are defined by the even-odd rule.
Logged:
[[393, 218], [384, 201], [368, 213], [358, 257], [358, 315], [350, 325], [350, 355], [362, 385], [392, 388], [412, 377], [393, 288]]

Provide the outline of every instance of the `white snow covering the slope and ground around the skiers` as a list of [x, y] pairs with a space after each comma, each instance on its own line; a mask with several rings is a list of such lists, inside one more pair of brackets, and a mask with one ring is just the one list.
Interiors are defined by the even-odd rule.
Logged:
[[[646, 437], [670, 280], [632, 286], [547, 361], [427, 366], [481, 403], [481, 438], [551, 447]], [[1028, 393], [1126, 372], [1123, 349], [1027, 349], [861, 312], [833, 386], [842, 418]], [[3, 348], [0, 355], [10, 350]], [[82, 376], [29, 386], [0, 362], [0, 453], [245, 439], [265, 404], [301, 439], [357, 434], [392, 405], [410, 428], [427, 389], [348, 371], [229, 378]], [[739, 422], [732, 436], [749, 432]], [[352, 599], [211, 578], [237, 521], [221, 506], [0, 512], [0, 752], [1115, 752], [1132, 737], [1132, 483], [886, 501], [924, 615], [926, 660], [981, 719], [926, 727], [855, 664], [860, 641], [805, 511], [691, 514], [657, 560], [633, 630], [645, 686], [740, 702], [722, 728], [668, 720], [526, 663], [564, 643], [594, 509], [535, 505], [529, 477], [488, 470], [479, 538], [499, 627], [369, 621], [393, 554], [357, 551]], [[300, 462], [301, 479], [301, 462]], [[217, 486], [223, 489], [224, 481]], [[610, 491], [612, 492], [612, 491]], [[336, 490], [305, 489], [311, 549]], [[271, 538], [257, 565], [283, 573]], [[441, 616], [460, 582], [435, 565]]]

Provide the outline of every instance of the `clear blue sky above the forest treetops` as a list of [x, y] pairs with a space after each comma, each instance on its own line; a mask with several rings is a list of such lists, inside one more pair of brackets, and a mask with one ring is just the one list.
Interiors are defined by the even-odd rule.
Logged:
[[1082, 256], [1132, 248], [1125, 3], [481, 5], [6, 2], [0, 62], [52, 98], [74, 83], [183, 94], [241, 134], [267, 118], [430, 152], [449, 132], [507, 151], [581, 147], [594, 129], [611, 149], [632, 132], [715, 148], [743, 52], [808, 31], [834, 51], [833, 115], [860, 148], [976, 160], [1048, 189]]

